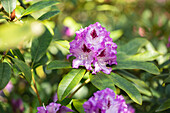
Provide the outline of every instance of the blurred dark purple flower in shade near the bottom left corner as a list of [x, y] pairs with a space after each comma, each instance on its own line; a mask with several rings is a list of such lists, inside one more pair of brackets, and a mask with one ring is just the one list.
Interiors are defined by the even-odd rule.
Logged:
[[12, 109], [14, 113], [23, 113], [24, 112], [24, 105], [21, 99], [12, 99]]

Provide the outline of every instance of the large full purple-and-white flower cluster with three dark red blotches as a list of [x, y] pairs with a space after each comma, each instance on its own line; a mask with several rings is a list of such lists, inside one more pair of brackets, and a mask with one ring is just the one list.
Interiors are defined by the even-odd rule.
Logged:
[[75, 56], [73, 68], [84, 65], [86, 69], [92, 70], [91, 64], [94, 65], [93, 74], [103, 71], [110, 74], [111, 68], [107, 64], [117, 64], [116, 55], [117, 45], [113, 43], [108, 32], [98, 22], [91, 24], [84, 29], [76, 32], [75, 39], [70, 42], [70, 55]]

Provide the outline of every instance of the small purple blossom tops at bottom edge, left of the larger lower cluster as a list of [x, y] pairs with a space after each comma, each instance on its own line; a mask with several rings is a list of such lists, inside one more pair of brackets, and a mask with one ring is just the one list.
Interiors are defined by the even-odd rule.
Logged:
[[61, 104], [55, 103], [58, 100], [57, 93], [54, 95], [53, 101], [49, 105], [37, 107], [37, 113], [67, 113], [73, 112], [70, 108], [66, 106], [61, 106]]

